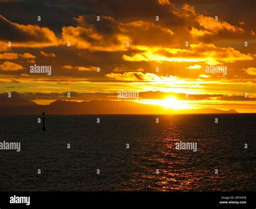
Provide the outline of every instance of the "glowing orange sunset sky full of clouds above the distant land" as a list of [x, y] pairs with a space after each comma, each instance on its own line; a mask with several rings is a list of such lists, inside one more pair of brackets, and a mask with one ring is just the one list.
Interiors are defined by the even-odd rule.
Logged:
[[[139, 92], [132, 101], [162, 107], [255, 113], [255, 6], [0, 0], [0, 94], [48, 105], [119, 100], [124, 90]], [[30, 73], [35, 64], [51, 66], [51, 75]], [[207, 73], [207, 66], [227, 72]]]

